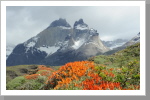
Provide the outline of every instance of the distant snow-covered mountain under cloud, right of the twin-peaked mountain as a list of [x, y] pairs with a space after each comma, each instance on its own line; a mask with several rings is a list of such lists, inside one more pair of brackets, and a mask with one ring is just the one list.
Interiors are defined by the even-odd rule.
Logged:
[[111, 50], [117, 47], [122, 46], [123, 44], [125, 44], [128, 40], [126, 39], [116, 39], [113, 41], [102, 41], [103, 44], [107, 47], [109, 47]]

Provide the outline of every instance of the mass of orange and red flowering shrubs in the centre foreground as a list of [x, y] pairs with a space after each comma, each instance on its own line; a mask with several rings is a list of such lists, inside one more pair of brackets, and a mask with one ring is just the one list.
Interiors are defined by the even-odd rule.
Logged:
[[[112, 71], [113, 68], [109, 70]], [[108, 76], [114, 77], [112, 72], [107, 72], [106, 70], [103, 70], [103, 72]], [[83, 79], [83, 77], [85, 77], [85, 79]], [[96, 73], [94, 63], [89, 61], [67, 63], [60, 67], [59, 70], [53, 72], [52, 75], [48, 77], [46, 84], [46, 89], [122, 89], [119, 82], [104, 81], [103, 78]]]

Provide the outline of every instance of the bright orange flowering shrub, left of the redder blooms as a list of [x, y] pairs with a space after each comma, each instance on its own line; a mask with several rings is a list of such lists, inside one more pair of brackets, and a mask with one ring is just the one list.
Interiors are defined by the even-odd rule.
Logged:
[[81, 77], [87, 76], [92, 69], [94, 69], [94, 63], [90, 61], [70, 62], [53, 72], [48, 77], [46, 84], [50, 85], [50, 87], [55, 87], [54, 89], [64, 89], [73, 80], [79, 80]]

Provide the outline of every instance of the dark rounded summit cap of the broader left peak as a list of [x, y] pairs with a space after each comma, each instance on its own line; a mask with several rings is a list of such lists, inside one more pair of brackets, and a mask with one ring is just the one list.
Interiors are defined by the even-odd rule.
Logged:
[[59, 20], [55, 20], [51, 23], [50, 27], [57, 27], [57, 26], [64, 26], [64, 27], [71, 27], [66, 19], [59, 18]]

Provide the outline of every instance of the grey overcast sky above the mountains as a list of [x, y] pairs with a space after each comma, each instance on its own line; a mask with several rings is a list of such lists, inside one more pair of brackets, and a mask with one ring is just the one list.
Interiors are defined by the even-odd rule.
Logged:
[[71, 26], [82, 18], [90, 28], [98, 31], [101, 40], [131, 39], [140, 32], [140, 7], [135, 6], [7, 6], [7, 43], [23, 43], [59, 18], [65, 18]]

